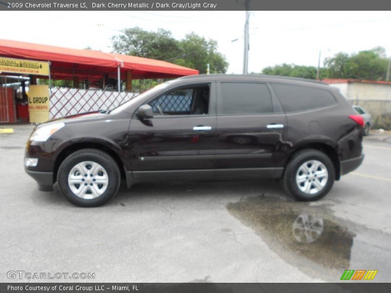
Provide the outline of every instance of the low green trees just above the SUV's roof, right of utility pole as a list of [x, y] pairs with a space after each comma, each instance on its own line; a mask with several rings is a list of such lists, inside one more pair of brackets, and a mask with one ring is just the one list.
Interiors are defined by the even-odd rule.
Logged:
[[[317, 68], [315, 66], [304, 66], [282, 63], [280, 65], [269, 66], [262, 69], [262, 74], [279, 75], [290, 77], [301, 77], [307, 79], [316, 79]], [[325, 68], [320, 69], [320, 78], [326, 77]]]

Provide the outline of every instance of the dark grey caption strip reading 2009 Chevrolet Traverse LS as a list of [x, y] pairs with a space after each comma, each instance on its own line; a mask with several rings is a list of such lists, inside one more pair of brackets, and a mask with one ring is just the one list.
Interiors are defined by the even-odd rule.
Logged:
[[387, 0], [0, 0], [2, 11], [391, 10]]

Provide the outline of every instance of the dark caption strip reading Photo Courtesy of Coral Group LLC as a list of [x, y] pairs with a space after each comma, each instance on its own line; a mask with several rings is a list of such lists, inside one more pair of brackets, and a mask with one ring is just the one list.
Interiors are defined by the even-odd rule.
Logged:
[[1, 293], [389, 293], [391, 283], [0, 283]]

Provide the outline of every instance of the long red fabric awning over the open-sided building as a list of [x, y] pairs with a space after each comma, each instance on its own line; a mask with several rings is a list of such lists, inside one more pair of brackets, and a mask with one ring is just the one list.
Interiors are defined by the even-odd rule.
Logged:
[[72, 79], [73, 76], [101, 79], [103, 74], [117, 77], [118, 65], [121, 68], [121, 79], [125, 79], [127, 71], [131, 71], [133, 79], [198, 74], [198, 70], [160, 60], [1, 39], [0, 56], [50, 61], [52, 78], [55, 79]]

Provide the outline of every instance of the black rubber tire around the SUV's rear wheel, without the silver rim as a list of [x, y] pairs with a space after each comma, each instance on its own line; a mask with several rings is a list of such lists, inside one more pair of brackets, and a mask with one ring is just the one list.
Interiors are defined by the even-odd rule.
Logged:
[[[296, 175], [299, 168], [307, 161], [316, 160], [321, 162], [326, 167], [328, 178], [325, 186], [318, 192], [313, 194], [305, 193], [300, 190], [296, 183]], [[305, 175], [305, 174], [304, 174]], [[308, 175], [309, 176], [309, 175]], [[314, 175], [311, 175], [314, 176]], [[306, 177], [307, 178], [307, 177]], [[310, 177], [311, 178], [311, 177]], [[309, 179], [310, 180], [310, 179]], [[323, 152], [316, 149], [304, 149], [295, 153], [289, 163], [286, 165], [282, 177], [282, 184], [285, 191], [291, 194], [299, 201], [315, 201], [324, 197], [332, 188], [335, 180], [335, 168], [330, 158]], [[303, 183], [304, 184], [304, 183]], [[311, 187], [312, 189], [312, 187]], [[314, 189], [312, 189], [314, 190]], [[315, 189], [316, 190], [316, 189]]]

